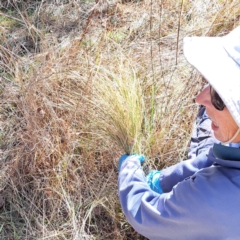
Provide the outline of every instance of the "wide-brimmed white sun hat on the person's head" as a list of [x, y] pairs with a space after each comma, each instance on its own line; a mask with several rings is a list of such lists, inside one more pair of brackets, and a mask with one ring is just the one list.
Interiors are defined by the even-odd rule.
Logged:
[[224, 37], [186, 37], [183, 49], [240, 127], [240, 27]]

